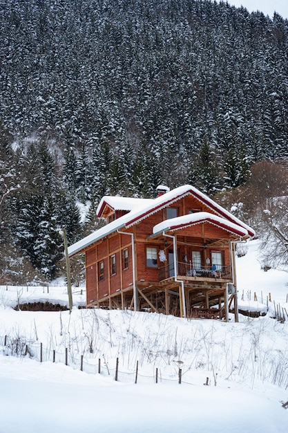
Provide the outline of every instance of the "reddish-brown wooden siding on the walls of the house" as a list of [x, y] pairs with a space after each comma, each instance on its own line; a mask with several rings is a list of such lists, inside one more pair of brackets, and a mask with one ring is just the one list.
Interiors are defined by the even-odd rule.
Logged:
[[[207, 211], [210, 213], [211, 210], [202, 205], [197, 199], [191, 196], [184, 197], [172, 203], [171, 208], [177, 208], [178, 216], [183, 214], [188, 214], [189, 211], [200, 212]], [[128, 228], [128, 232], [133, 232], [135, 241], [135, 276], [138, 288], [144, 287], [146, 295], [148, 294], [149, 299], [152, 303], [156, 302], [159, 304], [161, 293], [159, 288], [166, 287], [161, 286], [161, 284], [167, 284], [165, 288], [166, 293], [166, 313], [173, 313], [173, 304], [171, 301], [171, 306], [169, 307], [169, 296], [168, 290], [171, 290], [177, 294], [179, 290], [179, 283], [176, 283], [174, 279], [171, 279], [169, 275], [169, 251], [173, 250], [173, 240], [169, 237], [159, 237], [147, 239], [153, 234], [153, 227], [157, 223], [162, 222], [166, 219], [166, 209], [159, 210], [153, 215], [148, 216], [139, 223], [133, 225], [133, 227]], [[125, 230], [125, 229], [122, 229]], [[230, 246], [229, 239], [235, 239], [234, 235], [222, 228], [218, 228], [216, 225], [211, 223], [199, 223], [195, 224], [189, 228], [183, 228], [175, 231], [175, 237], [177, 240], [177, 260], [178, 262], [187, 260], [188, 262], [192, 260], [192, 251], [198, 250], [201, 254], [202, 264], [206, 264], [206, 259], [209, 257], [211, 259], [211, 252], [221, 252], [223, 265], [230, 265]], [[215, 241], [221, 241], [227, 239], [227, 243], [223, 242], [222, 245], [213, 245]], [[204, 244], [207, 243], [206, 248]], [[211, 245], [209, 245], [211, 243]], [[220, 246], [219, 246], [220, 245]], [[154, 247], [157, 249], [157, 267], [147, 267], [146, 266], [146, 247]], [[124, 269], [123, 263], [123, 250], [128, 248], [128, 268]], [[164, 250], [166, 255], [166, 261], [160, 262], [159, 251]], [[115, 255], [116, 260], [116, 273], [111, 275], [111, 255]], [[130, 234], [125, 234], [125, 232], [115, 232], [108, 235], [105, 239], [102, 239], [97, 243], [97, 246], [89, 248], [86, 251], [86, 277], [87, 277], [87, 303], [97, 304], [98, 300], [102, 300], [99, 305], [118, 306], [121, 308], [130, 308], [133, 304], [133, 247], [132, 247], [132, 237]], [[98, 275], [98, 264], [99, 261], [104, 261], [104, 279], [99, 281]], [[186, 266], [186, 265], [184, 265]], [[165, 268], [164, 275], [160, 268]], [[209, 306], [209, 300], [207, 301], [207, 296], [205, 293], [214, 293], [214, 297], [221, 297], [224, 294], [224, 288], [226, 287], [226, 282], [216, 281], [212, 278], [206, 278], [207, 281], [197, 277], [187, 277], [186, 273], [184, 275], [185, 284], [185, 296], [187, 305], [191, 308], [190, 304], [194, 299], [198, 302], [198, 292], [204, 293], [204, 304]], [[168, 281], [165, 283], [162, 280], [167, 278]], [[170, 281], [171, 280], [171, 281]], [[187, 280], [187, 281], [186, 281]], [[208, 281], [209, 280], [209, 281]], [[158, 286], [159, 284], [159, 286]], [[169, 286], [170, 284], [170, 286]], [[123, 291], [123, 292], [122, 292]], [[150, 291], [150, 292], [149, 292]], [[118, 296], [119, 293], [119, 296]], [[144, 293], [144, 294], [145, 294]], [[151, 293], [151, 295], [149, 295]], [[164, 293], [164, 292], [163, 292]], [[145, 296], [146, 296], [145, 295]], [[155, 300], [153, 296], [155, 295]], [[206, 297], [205, 297], [206, 296]], [[106, 298], [103, 300], [103, 298]], [[156, 301], [157, 299], [157, 301]], [[173, 302], [177, 304], [179, 302], [179, 297], [174, 295]], [[145, 304], [144, 298], [142, 298], [142, 304]], [[156, 304], [155, 304], [156, 305]], [[151, 306], [147, 304], [146, 307]], [[158, 308], [158, 307], [157, 307]], [[187, 307], [188, 308], [188, 307]], [[156, 311], [156, 310], [155, 310]], [[188, 309], [187, 309], [188, 311]], [[179, 312], [177, 313], [179, 314]]]

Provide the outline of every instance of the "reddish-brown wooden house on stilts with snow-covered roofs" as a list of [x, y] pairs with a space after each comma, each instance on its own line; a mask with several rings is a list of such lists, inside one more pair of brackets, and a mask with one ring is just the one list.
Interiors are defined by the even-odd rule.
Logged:
[[191, 185], [160, 185], [156, 199], [104, 196], [106, 225], [68, 248], [85, 253], [87, 306], [180, 317], [236, 312], [236, 243], [248, 225]]

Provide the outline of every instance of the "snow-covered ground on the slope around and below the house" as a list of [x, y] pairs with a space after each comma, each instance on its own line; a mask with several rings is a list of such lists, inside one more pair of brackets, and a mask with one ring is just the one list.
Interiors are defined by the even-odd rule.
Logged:
[[[248, 245], [237, 259], [240, 308], [267, 312], [269, 293], [271, 302], [240, 323], [79, 310], [81, 288], [71, 315], [15, 311], [18, 302], [68, 304], [66, 289], [2, 286], [0, 433], [287, 433], [288, 317], [271, 317], [276, 305], [288, 311], [288, 274], [261, 270], [258, 241]], [[26, 344], [32, 357], [17, 357]]]

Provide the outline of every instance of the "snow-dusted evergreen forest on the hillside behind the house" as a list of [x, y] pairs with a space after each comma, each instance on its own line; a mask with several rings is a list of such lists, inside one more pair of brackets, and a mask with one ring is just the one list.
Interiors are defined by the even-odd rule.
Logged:
[[[269, 188], [287, 193], [288, 21], [276, 12], [0, 0], [0, 39], [0, 284], [61, 275], [59, 228], [68, 243], [95, 230], [105, 194], [190, 183], [258, 223]], [[274, 177], [261, 193], [263, 167]]]

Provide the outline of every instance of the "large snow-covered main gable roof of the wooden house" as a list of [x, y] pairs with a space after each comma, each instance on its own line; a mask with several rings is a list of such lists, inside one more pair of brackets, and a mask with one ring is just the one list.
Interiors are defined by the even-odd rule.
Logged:
[[[183, 185], [181, 187], [175, 188], [174, 190], [166, 192], [166, 194], [162, 194], [156, 199], [135, 199], [134, 201], [133, 199], [126, 199], [122, 197], [122, 199], [127, 200], [127, 203], [128, 202], [130, 202], [131, 204], [135, 203], [132, 210], [128, 212], [128, 214], [124, 216], [120, 216], [120, 218], [116, 219], [115, 221], [108, 223], [107, 225], [100, 228], [99, 230], [96, 230], [95, 232], [84, 237], [84, 239], [81, 239], [80, 241], [74, 243], [74, 245], [68, 248], [68, 255], [69, 256], [75, 255], [77, 252], [83, 250], [87, 246], [90, 246], [92, 243], [99, 241], [99, 239], [102, 239], [108, 234], [111, 234], [119, 230], [120, 228], [129, 228], [133, 224], [139, 223], [140, 221], [154, 214], [158, 210], [166, 208], [166, 206], [175, 203], [175, 201], [180, 200], [183, 197], [188, 196], [189, 194], [194, 196], [201, 203], [204, 203], [204, 205], [206, 205], [208, 208], [213, 210], [213, 212], [217, 213], [218, 216], [221, 216], [223, 219], [227, 219], [228, 221], [234, 223], [235, 225], [240, 225], [241, 228], [247, 230], [249, 237], [255, 236], [255, 232], [252, 228], [242, 223], [240, 219], [236, 218], [236, 216], [233, 216], [230, 212], [222, 208], [222, 206], [215, 203], [215, 201], [209, 199], [207, 195], [203, 194], [202, 192], [197, 190], [197, 188], [191, 185]], [[103, 203], [105, 203], [104, 198], [102, 199], [102, 202], [100, 202], [102, 203], [102, 205]], [[114, 202], [113, 199], [115, 199]], [[114, 203], [114, 205], [117, 205], [118, 199], [121, 199], [121, 197], [112, 197], [112, 202]], [[137, 205], [136, 205], [136, 201], [137, 201]], [[118, 205], [119, 204], [121, 203], [119, 202]]]

